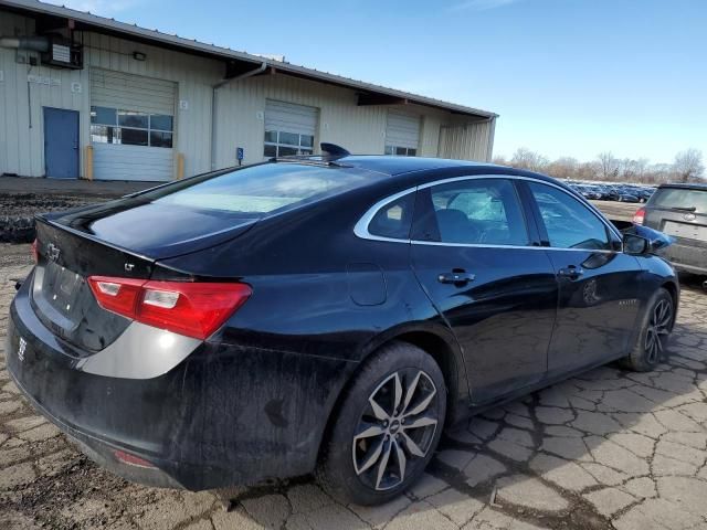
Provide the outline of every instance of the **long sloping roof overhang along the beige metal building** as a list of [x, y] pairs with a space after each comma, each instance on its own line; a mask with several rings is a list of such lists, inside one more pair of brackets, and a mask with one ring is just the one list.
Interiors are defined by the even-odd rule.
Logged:
[[36, 0], [0, 0], [0, 8], [38, 19], [38, 28], [41, 31], [55, 31], [57, 29], [67, 28], [68, 24], [72, 23], [73, 29], [77, 31], [92, 31], [123, 39], [130, 39], [154, 46], [221, 60], [226, 65], [226, 77], [232, 75], [235, 76], [239, 72], [246, 72], [266, 63], [270, 68], [265, 73], [285, 74], [356, 91], [359, 97], [359, 105], [414, 104], [446, 110], [456, 115], [469, 116], [476, 119], [493, 119], [498, 116], [497, 114], [488, 110], [443, 102], [403, 91], [397, 91], [394, 88], [374, 85], [372, 83], [350, 80], [328, 72], [321, 72], [315, 68], [307, 68], [305, 66], [298, 66], [260, 55], [239, 52], [228, 47], [207, 44], [196, 40], [162, 33], [157, 30], [148, 30], [135, 24], [118, 22], [115, 19], [97, 17], [95, 14], [43, 3]]

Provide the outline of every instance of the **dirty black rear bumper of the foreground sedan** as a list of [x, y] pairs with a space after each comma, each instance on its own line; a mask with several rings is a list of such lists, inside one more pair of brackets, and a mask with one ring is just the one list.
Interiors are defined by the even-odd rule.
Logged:
[[[191, 490], [314, 469], [355, 363], [207, 342], [159, 377], [89, 373], [31, 312], [28, 284], [10, 307], [8, 371], [36, 410], [101, 466], [129, 480]], [[155, 468], [125, 464], [116, 451]]]

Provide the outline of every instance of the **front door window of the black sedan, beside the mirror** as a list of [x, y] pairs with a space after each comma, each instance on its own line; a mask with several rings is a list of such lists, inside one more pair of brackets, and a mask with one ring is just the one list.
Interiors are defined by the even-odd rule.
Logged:
[[611, 250], [606, 225], [580, 201], [557, 188], [528, 184], [556, 248]]

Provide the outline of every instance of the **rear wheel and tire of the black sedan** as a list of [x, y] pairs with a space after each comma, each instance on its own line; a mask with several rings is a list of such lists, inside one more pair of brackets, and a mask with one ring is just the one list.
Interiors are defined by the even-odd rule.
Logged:
[[345, 504], [391, 500], [424, 471], [445, 414], [446, 386], [434, 359], [407, 342], [384, 346], [365, 361], [344, 395], [319, 455], [317, 481]]

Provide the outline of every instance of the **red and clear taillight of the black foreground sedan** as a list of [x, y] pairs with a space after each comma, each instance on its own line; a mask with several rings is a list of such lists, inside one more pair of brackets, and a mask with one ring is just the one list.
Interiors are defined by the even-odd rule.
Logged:
[[251, 296], [238, 283], [155, 282], [91, 276], [104, 309], [175, 333], [205, 339]]

